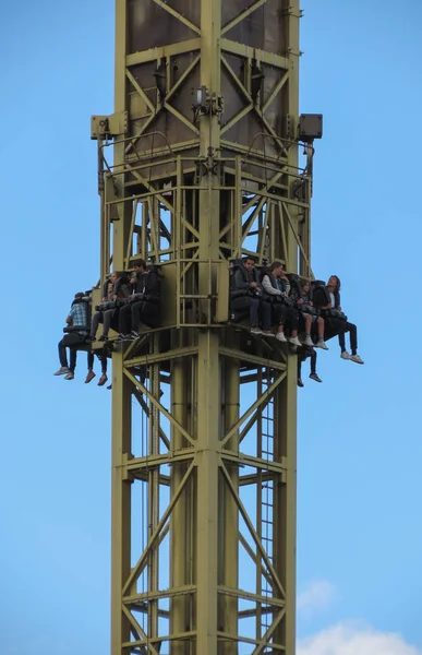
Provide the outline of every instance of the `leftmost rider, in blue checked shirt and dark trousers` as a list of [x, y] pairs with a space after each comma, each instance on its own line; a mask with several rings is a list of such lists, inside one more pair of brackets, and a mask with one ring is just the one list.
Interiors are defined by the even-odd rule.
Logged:
[[[87, 303], [83, 300], [84, 294], [79, 293], [72, 302], [69, 315], [65, 319], [68, 332], [59, 342], [59, 360], [60, 368], [55, 376], [65, 376], [65, 380], [73, 380], [76, 366], [76, 349], [88, 335], [87, 326]], [[65, 349], [70, 348], [70, 366], [68, 366], [68, 357]]]

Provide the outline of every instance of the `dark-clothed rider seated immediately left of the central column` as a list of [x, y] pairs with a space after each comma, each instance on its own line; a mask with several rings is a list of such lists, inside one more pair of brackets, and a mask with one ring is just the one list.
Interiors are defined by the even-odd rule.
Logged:
[[141, 323], [146, 323], [150, 327], [159, 324], [158, 273], [152, 269], [147, 270], [146, 262], [138, 260], [131, 283], [133, 294], [120, 310], [117, 342], [137, 340]]

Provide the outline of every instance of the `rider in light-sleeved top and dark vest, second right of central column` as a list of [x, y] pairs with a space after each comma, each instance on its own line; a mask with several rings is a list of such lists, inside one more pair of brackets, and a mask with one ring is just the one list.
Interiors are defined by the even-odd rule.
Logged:
[[[293, 346], [300, 347], [302, 344], [298, 338], [299, 312], [293, 307], [293, 299], [290, 298], [291, 285], [286, 275], [281, 262], [274, 262], [263, 275], [264, 293], [272, 300], [272, 308], [278, 324], [276, 338], [286, 343], [289, 341]], [[291, 335], [287, 340], [285, 326], [290, 327]]]

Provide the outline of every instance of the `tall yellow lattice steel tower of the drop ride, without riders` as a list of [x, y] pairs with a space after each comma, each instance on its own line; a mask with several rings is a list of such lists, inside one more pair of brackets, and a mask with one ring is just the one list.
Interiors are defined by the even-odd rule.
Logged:
[[157, 264], [162, 318], [112, 354], [112, 655], [294, 654], [297, 358], [230, 322], [229, 277], [246, 253], [310, 274], [299, 19], [116, 2], [101, 276]]

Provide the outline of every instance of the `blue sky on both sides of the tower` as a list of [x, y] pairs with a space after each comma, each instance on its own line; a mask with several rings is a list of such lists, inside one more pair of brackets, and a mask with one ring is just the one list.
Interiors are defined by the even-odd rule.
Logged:
[[[299, 655], [421, 655], [422, 4], [302, 9], [301, 110], [324, 114], [313, 266], [341, 277], [366, 364], [331, 342], [300, 391]], [[110, 395], [83, 356], [74, 383], [51, 373], [69, 299], [98, 278], [89, 117], [112, 111], [113, 1], [8, 3], [0, 37], [0, 653], [99, 655]]]

